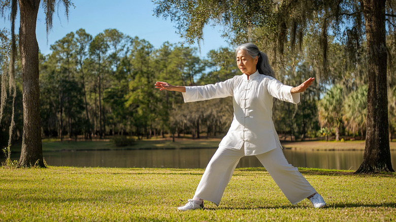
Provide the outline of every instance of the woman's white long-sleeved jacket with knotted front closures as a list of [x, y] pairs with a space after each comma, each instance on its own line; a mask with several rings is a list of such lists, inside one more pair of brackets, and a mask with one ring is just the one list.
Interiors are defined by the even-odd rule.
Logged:
[[219, 146], [241, 149], [245, 155], [257, 155], [281, 147], [272, 121], [273, 98], [297, 104], [300, 93], [291, 94], [292, 86], [283, 85], [256, 71], [224, 82], [203, 86], [186, 86], [184, 102], [233, 97], [234, 118]]

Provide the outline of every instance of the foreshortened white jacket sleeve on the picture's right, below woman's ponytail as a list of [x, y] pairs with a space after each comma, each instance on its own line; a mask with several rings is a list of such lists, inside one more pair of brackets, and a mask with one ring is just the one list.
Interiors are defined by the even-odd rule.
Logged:
[[278, 100], [293, 104], [300, 103], [300, 93], [291, 94], [290, 90], [293, 87], [284, 85], [275, 78], [270, 78], [267, 88], [270, 95], [277, 98]]

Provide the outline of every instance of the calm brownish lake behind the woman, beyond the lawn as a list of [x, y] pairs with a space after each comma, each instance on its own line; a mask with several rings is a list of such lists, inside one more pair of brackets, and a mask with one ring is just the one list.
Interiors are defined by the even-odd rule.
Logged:
[[[122, 167], [122, 168], [205, 168], [215, 148], [200, 149], [144, 149], [43, 152], [50, 166]], [[363, 150], [312, 151], [283, 149], [286, 159], [294, 167], [357, 170], [363, 160]], [[393, 169], [396, 169], [396, 150], [391, 150]], [[19, 153], [12, 154], [18, 160]], [[4, 156], [0, 161], [5, 160]], [[241, 158], [237, 168], [261, 167], [255, 156]]]

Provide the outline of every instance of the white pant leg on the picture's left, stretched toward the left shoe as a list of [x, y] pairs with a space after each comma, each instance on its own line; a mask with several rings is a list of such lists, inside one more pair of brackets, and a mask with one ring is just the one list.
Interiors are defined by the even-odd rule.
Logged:
[[244, 153], [243, 148], [237, 150], [219, 147], [212, 156], [200, 183], [196, 187], [194, 198], [207, 200], [218, 206], [225, 187]]

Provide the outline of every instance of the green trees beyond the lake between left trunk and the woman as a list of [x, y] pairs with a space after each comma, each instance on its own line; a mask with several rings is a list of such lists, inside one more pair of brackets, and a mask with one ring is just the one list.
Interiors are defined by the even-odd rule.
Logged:
[[215, 66], [200, 59], [193, 48], [168, 42], [154, 48], [116, 29], [92, 38], [80, 29], [51, 49], [40, 62], [43, 136], [200, 137], [201, 131], [223, 131], [226, 122], [218, 118], [225, 115], [220, 107], [204, 111], [180, 106], [180, 93], [154, 88], [158, 80], [197, 84], [204, 71]]

